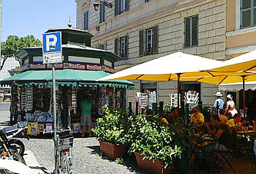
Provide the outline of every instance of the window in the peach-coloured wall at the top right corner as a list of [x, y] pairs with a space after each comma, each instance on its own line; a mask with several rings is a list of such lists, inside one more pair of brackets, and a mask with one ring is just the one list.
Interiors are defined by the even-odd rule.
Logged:
[[256, 0], [241, 0], [241, 28], [256, 25]]

